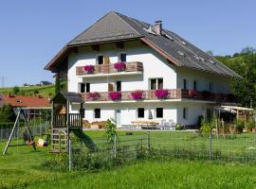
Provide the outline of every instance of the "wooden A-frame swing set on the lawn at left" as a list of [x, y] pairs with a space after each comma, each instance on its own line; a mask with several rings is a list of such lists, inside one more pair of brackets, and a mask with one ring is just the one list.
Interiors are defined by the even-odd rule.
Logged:
[[[27, 113], [25, 113], [27, 111]], [[26, 115], [27, 114], [27, 115]], [[48, 134], [42, 134], [42, 112], [30, 112], [29, 110], [26, 109], [18, 109], [17, 110], [17, 116], [14, 122], [14, 125], [11, 129], [11, 132], [9, 134], [9, 140], [7, 145], [4, 148], [3, 155], [5, 155], [9, 149], [9, 147], [12, 146], [32, 146], [34, 150], [36, 150], [36, 143], [34, 141], [34, 136], [31, 132], [31, 129], [29, 127], [29, 123], [32, 123], [32, 118], [33, 118], [33, 129], [37, 129], [36, 126], [36, 117], [39, 117], [40, 120], [40, 138], [38, 140], [37, 146], [43, 147], [47, 146], [47, 142], [49, 141], [50, 136]], [[46, 121], [47, 121], [47, 112], [46, 112]], [[18, 138], [19, 138], [19, 129], [20, 129], [20, 121], [24, 121], [25, 124], [25, 130], [23, 132], [23, 143], [21, 143]], [[16, 131], [16, 132], [15, 132]], [[35, 130], [34, 130], [35, 131]], [[13, 138], [16, 136], [16, 144], [11, 144], [11, 141]], [[44, 137], [43, 137], [44, 136]]]

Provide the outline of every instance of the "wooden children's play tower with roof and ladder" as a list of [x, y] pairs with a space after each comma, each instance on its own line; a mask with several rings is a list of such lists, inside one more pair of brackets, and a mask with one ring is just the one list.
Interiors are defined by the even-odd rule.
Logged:
[[[69, 134], [82, 135], [83, 100], [79, 94], [59, 92], [51, 100], [51, 146], [52, 152], [68, 152]], [[70, 111], [71, 105], [80, 108], [79, 113]]]

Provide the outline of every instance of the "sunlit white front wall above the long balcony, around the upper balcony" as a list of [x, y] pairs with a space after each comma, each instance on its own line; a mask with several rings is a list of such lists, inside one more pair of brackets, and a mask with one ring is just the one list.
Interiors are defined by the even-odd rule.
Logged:
[[[108, 56], [110, 63], [119, 61], [119, 53], [127, 54], [126, 60], [140, 61], [143, 63], [143, 74], [139, 76], [122, 77], [76, 77], [76, 66], [96, 64], [98, 55]], [[124, 48], [118, 48], [115, 44], [102, 44], [101, 50], [94, 51], [90, 46], [80, 47], [77, 54], [73, 53], [68, 58], [68, 91], [79, 92], [79, 82], [91, 83], [91, 92], [107, 92], [108, 83], [121, 80], [122, 91], [148, 90], [149, 78], [163, 77], [164, 88], [176, 88], [176, 73], [174, 65], [158, 55], [152, 48], [134, 41], [124, 44]]]

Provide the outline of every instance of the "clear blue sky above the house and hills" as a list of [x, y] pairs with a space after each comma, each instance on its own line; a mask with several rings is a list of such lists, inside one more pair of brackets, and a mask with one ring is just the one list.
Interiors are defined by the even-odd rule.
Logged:
[[0, 0], [0, 87], [53, 81], [46, 63], [111, 10], [162, 20], [202, 50], [232, 55], [256, 47], [255, 8], [255, 0]]

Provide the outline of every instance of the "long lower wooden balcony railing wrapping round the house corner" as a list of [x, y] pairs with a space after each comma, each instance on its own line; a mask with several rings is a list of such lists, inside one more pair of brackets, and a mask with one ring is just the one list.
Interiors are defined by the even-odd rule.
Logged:
[[141, 99], [134, 99], [132, 93], [134, 91], [122, 91], [118, 100], [113, 100], [109, 95], [110, 92], [100, 93], [85, 93], [81, 94], [85, 102], [91, 101], [126, 101], [126, 100], [170, 100], [170, 99], [191, 99], [191, 100], [204, 100], [213, 102], [234, 102], [231, 94], [213, 94], [210, 92], [192, 92], [183, 89], [170, 89], [167, 90], [168, 94], [164, 98], [159, 98], [155, 95], [155, 90], [142, 91]]

